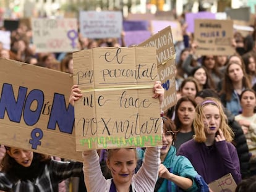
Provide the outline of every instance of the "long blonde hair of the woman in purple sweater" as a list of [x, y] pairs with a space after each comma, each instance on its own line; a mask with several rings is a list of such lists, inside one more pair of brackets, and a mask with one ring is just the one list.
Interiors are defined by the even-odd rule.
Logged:
[[231, 128], [228, 125], [228, 119], [223, 111], [223, 106], [221, 105], [221, 102], [219, 99], [216, 98], [210, 98], [207, 97], [203, 99], [203, 101], [195, 107], [195, 119], [194, 119], [194, 131], [195, 136], [194, 139], [198, 143], [203, 143], [206, 141], [206, 135], [205, 135], [205, 125], [203, 123], [203, 120], [205, 119], [205, 114], [203, 114], [203, 107], [207, 105], [213, 105], [218, 107], [220, 110], [220, 127], [219, 129], [223, 131], [223, 136], [226, 138], [226, 141], [231, 142], [233, 141], [234, 133], [231, 130]]

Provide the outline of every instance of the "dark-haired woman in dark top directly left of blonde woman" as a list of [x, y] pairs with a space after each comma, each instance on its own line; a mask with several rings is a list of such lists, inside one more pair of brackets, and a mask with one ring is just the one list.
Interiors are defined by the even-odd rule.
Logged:
[[177, 101], [175, 108], [174, 123], [177, 127], [176, 141], [174, 147], [178, 150], [179, 146], [193, 138], [193, 121], [195, 117], [195, 107], [197, 104], [194, 99], [184, 96]]

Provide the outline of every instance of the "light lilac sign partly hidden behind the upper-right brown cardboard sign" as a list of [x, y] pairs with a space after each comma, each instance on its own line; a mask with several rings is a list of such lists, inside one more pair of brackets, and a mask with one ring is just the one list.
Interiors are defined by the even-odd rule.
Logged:
[[186, 14], [187, 32], [194, 33], [195, 19], [215, 19], [215, 14], [207, 11], [202, 11], [198, 13], [187, 13]]

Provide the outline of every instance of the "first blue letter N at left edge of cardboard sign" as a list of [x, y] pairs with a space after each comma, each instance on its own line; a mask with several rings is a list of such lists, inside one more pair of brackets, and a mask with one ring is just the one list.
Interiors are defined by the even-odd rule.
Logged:
[[22, 109], [26, 94], [27, 88], [20, 86], [17, 101], [15, 101], [12, 85], [4, 83], [0, 98], [0, 119], [4, 119], [4, 112], [6, 111], [12, 122], [19, 123], [22, 117]]

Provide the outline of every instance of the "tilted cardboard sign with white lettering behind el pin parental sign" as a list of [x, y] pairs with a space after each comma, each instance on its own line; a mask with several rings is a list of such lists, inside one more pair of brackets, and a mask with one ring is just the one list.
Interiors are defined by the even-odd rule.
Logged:
[[158, 75], [165, 90], [163, 110], [176, 104], [175, 49], [171, 27], [166, 27], [139, 46], [155, 47]]

